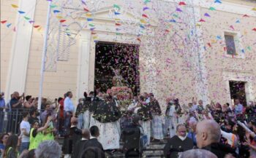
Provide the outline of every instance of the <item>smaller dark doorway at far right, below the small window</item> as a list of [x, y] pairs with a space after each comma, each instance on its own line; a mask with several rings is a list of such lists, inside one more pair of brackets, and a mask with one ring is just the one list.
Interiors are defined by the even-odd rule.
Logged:
[[232, 103], [235, 99], [239, 99], [240, 103], [246, 105], [246, 92], [245, 92], [246, 82], [230, 81], [230, 95]]

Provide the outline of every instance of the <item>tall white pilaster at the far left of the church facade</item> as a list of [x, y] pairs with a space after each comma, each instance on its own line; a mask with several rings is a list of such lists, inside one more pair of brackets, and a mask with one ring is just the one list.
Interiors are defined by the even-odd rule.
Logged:
[[[20, 0], [19, 10], [26, 12], [26, 17], [34, 19], [36, 0]], [[17, 13], [16, 32], [12, 42], [12, 52], [10, 55], [10, 66], [7, 76], [6, 96], [10, 99], [12, 92], [18, 91], [20, 94], [25, 91], [26, 73], [29, 61], [29, 50], [33, 25], [26, 21]]]

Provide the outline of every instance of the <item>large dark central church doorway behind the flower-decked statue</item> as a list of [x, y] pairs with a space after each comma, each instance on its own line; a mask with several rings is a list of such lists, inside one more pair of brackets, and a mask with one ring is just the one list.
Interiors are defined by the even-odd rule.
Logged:
[[139, 45], [97, 42], [95, 48], [94, 88], [107, 92], [113, 87], [114, 70], [124, 78], [124, 85], [134, 95], [140, 93]]

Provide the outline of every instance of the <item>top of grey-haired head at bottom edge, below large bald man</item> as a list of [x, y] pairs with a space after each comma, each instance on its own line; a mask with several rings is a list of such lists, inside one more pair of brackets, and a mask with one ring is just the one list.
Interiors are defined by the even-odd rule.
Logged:
[[210, 151], [203, 149], [191, 149], [181, 154], [179, 158], [217, 158], [217, 156]]

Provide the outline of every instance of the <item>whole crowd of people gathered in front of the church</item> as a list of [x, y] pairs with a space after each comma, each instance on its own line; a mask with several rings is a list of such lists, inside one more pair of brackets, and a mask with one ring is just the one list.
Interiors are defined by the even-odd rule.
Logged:
[[[125, 157], [141, 157], [151, 142], [165, 143], [166, 139], [165, 157], [256, 157], [253, 101], [248, 106], [239, 99], [205, 104], [192, 98], [191, 103], [181, 105], [178, 98], [170, 97], [163, 112], [164, 106], [161, 108], [152, 93], [133, 96], [124, 110], [110, 94], [85, 92], [75, 106], [72, 92], [67, 92], [53, 101], [42, 98], [41, 110], [37, 110], [38, 98], [31, 95], [14, 92], [10, 101], [3, 96], [1, 93], [0, 117], [10, 114], [6, 128], [0, 123], [4, 158], [38, 158], [50, 144], [56, 146], [56, 152], [45, 158], [59, 158], [61, 153], [74, 158], [114, 157], [119, 152]], [[22, 118], [17, 120], [14, 114]], [[64, 137], [62, 148], [54, 141], [60, 137]]]

